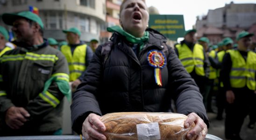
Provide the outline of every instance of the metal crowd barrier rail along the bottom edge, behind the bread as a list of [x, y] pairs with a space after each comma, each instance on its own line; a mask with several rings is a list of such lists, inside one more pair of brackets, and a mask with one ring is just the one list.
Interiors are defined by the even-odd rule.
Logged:
[[[0, 140], [80, 140], [79, 135], [61, 135], [61, 136], [15, 136], [15, 137], [0, 137]], [[85, 138], [83, 137], [83, 140]], [[222, 140], [211, 134], [206, 135], [205, 140]]]

